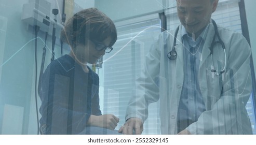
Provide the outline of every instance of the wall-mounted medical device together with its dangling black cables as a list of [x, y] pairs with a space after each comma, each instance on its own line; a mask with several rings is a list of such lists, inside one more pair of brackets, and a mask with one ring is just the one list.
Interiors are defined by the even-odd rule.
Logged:
[[[58, 1], [60, 2], [60, 1]], [[63, 0], [64, 2], [64, 0]], [[53, 8], [52, 4], [56, 4], [57, 1], [46, 1], [46, 0], [30, 0], [29, 3], [23, 5], [23, 11], [21, 20], [28, 24], [28, 31], [33, 28], [32, 33], [35, 33], [35, 104], [37, 114], [37, 134], [39, 134], [39, 118], [38, 118], [38, 107], [37, 107], [37, 93], [40, 94], [42, 75], [44, 71], [45, 57], [46, 57], [46, 42], [48, 35], [51, 36], [51, 61], [55, 60], [55, 42], [56, 38], [60, 38], [60, 32], [65, 22], [65, 13], [62, 16], [59, 14], [59, 9]], [[58, 4], [57, 4], [58, 5]], [[61, 18], [58, 21], [58, 16]], [[61, 22], [60, 22], [61, 21]], [[60, 22], [60, 23], [59, 23]], [[62, 23], [62, 24], [61, 24]], [[45, 33], [45, 46], [42, 53], [41, 71], [39, 73], [38, 88], [37, 88], [37, 34], [38, 31]], [[51, 31], [52, 30], [52, 31]], [[40, 38], [42, 37], [39, 36]], [[62, 45], [61, 42], [61, 55]]]

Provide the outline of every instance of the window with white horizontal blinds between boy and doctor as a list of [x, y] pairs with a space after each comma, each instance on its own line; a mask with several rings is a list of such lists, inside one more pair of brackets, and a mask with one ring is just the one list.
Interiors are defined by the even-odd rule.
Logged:
[[[103, 113], [113, 113], [120, 118], [116, 128], [125, 123], [128, 101], [135, 80], [140, 76], [145, 54], [160, 31], [158, 13], [115, 23], [118, 39], [110, 54], [104, 55], [104, 107]], [[101, 99], [102, 100], [102, 99]], [[160, 134], [158, 103], [150, 105], [149, 118], [144, 123], [143, 134]], [[157, 125], [156, 125], [157, 124]]]

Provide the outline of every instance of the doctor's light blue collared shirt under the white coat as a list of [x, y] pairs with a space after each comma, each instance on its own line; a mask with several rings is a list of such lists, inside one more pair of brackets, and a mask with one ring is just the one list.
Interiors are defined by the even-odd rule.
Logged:
[[198, 83], [198, 70], [200, 55], [204, 46], [206, 29], [194, 41], [182, 26], [184, 56], [184, 82], [182, 86], [178, 120], [197, 121], [200, 114], [205, 111], [205, 104]]

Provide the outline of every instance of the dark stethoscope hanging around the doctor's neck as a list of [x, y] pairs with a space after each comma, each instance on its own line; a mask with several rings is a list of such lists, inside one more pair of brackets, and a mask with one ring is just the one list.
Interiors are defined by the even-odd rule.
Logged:
[[[212, 62], [212, 66], [213, 66], [213, 69], [211, 69], [211, 72], [214, 72], [214, 74], [216, 75], [220, 75], [222, 74], [223, 72], [225, 72], [225, 69], [226, 69], [226, 51], [225, 51], [225, 45], [224, 45], [224, 42], [221, 40], [220, 38], [220, 35], [219, 35], [219, 32], [218, 32], [218, 28], [217, 28], [217, 24], [215, 23], [214, 20], [212, 20], [212, 23], [213, 23], [213, 26], [214, 26], [214, 37], [212, 39], [212, 42], [211, 42], [211, 47], [210, 47], [210, 54], [211, 54], [211, 62]], [[177, 51], [175, 50], [175, 46], [176, 46], [176, 40], [177, 40], [177, 34], [178, 34], [178, 31], [179, 31], [179, 26], [177, 27], [176, 31], [175, 31], [175, 34], [174, 34], [174, 39], [173, 39], [173, 46], [172, 46], [172, 49], [171, 51], [167, 54], [168, 58], [170, 60], [176, 60], [177, 59]], [[218, 38], [218, 41], [215, 41], [216, 39], [216, 36]], [[223, 48], [223, 51], [224, 51], [224, 55], [225, 55], [225, 65], [224, 65], [224, 68], [222, 70], [216, 70], [214, 68], [214, 64], [213, 64], [213, 58], [212, 58], [212, 53], [213, 53], [213, 47], [214, 45], [217, 45], [217, 44], [220, 44]]]

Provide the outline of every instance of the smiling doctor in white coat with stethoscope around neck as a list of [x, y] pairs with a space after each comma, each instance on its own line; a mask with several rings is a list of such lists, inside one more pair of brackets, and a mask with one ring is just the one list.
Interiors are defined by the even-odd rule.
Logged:
[[217, 5], [177, 0], [177, 36], [161, 33], [147, 54], [120, 133], [141, 134], [149, 104], [159, 100], [161, 134], [252, 134], [251, 49], [241, 34], [214, 26]]

